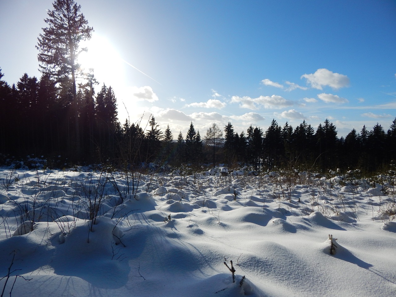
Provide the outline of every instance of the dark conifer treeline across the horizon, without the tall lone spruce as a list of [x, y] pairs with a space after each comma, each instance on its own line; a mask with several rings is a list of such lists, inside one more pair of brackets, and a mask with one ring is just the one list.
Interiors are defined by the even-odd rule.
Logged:
[[[72, 86], [43, 75], [40, 80], [24, 74], [12, 86], [2, 80], [0, 69], [0, 153], [10, 156], [59, 155], [70, 163], [106, 163], [138, 168], [150, 162], [159, 165], [225, 164], [249, 166], [258, 173], [276, 168], [362, 169], [372, 172], [390, 168], [395, 160], [396, 118], [385, 131], [380, 124], [371, 130], [352, 129], [337, 137], [336, 127], [325, 120], [315, 130], [305, 120], [292, 127], [272, 120], [263, 130], [250, 126], [236, 133], [229, 122], [223, 129], [212, 124], [201, 137], [191, 122], [187, 135], [179, 132], [173, 141], [168, 127], [161, 131], [154, 116], [148, 123], [120, 124], [116, 96], [101, 86], [95, 95], [92, 82], [77, 91], [81, 153], [75, 153], [75, 113]], [[213, 132], [215, 130], [215, 132]], [[223, 133], [224, 131], [224, 138]]]

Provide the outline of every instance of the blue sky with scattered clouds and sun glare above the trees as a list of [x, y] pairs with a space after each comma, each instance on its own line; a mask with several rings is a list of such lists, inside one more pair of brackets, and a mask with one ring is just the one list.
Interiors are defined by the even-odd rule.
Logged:
[[[121, 122], [153, 114], [176, 138], [191, 121], [205, 135], [213, 122], [240, 133], [328, 118], [345, 137], [396, 117], [394, 0], [77, 3], [95, 30], [82, 63], [114, 89]], [[52, 1], [0, 2], [9, 84], [40, 77], [46, 9]]]

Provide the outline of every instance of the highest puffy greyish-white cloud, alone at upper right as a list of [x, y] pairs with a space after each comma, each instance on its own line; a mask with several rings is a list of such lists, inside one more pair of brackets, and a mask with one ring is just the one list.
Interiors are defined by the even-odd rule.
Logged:
[[329, 86], [333, 89], [339, 89], [349, 86], [349, 78], [346, 75], [333, 73], [325, 68], [316, 70], [313, 74], [304, 74], [301, 78], [306, 78], [307, 83], [312, 88], [322, 89], [324, 86]]

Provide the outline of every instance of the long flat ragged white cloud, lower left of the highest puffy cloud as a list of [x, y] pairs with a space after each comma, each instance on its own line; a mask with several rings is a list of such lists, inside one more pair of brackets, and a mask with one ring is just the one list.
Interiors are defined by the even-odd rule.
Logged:
[[231, 103], [240, 103], [240, 107], [252, 110], [258, 109], [260, 106], [263, 106], [266, 109], [280, 109], [282, 107], [293, 105], [292, 101], [286, 100], [285, 98], [278, 95], [272, 95], [271, 97], [260, 96], [257, 98], [251, 98], [248, 96], [232, 96]]

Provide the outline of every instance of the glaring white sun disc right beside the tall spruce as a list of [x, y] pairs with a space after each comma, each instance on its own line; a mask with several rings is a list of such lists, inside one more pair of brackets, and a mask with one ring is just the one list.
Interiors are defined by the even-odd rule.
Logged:
[[124, 61], [107, 38], [93, 34], [90, 40], [80, 45], [88, 50], [82, 51], [77, 61], [82, 69], [93, 69], [97, 80], [107, 82], [109, 78], [123, 74]]

